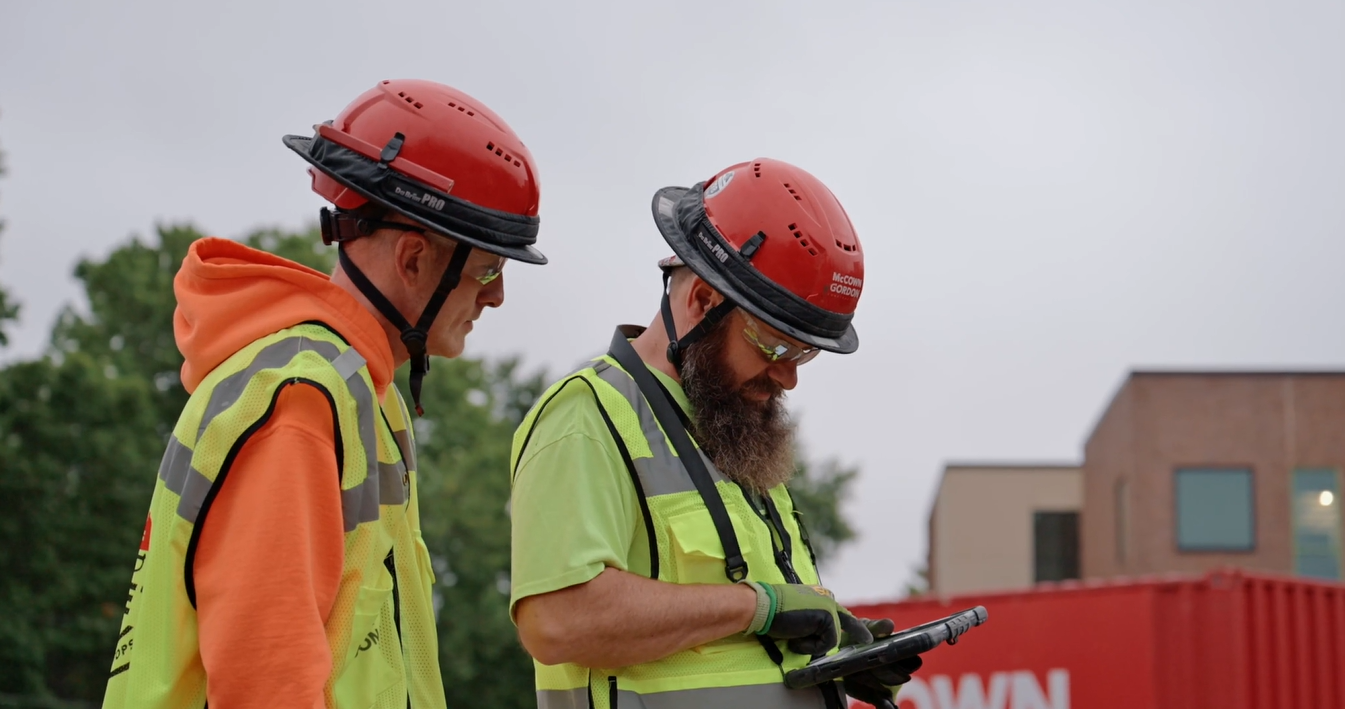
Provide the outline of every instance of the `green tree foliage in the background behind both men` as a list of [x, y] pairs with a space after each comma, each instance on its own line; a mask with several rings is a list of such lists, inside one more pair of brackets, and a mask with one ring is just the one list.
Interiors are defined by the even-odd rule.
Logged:
[[[172, 280], [200, 237], [161, 226], [81, 261], [87, 311], [67, 307], [43, 357], [0, 369], [0, 700], [102, 697], [155, 471], [187, 401]], [[324, 272], [335, 260], [313, 230], [245, 241]], [[535, 704], [508, 618], [506, 503], [510, 440], [545, 383], [514, 359], [434, 361], [425, 379], [418, 494], [453, 706]], [[795, 498], [826, 557], [854, 535], [837, 506], [855, 472], [799, 467]]]

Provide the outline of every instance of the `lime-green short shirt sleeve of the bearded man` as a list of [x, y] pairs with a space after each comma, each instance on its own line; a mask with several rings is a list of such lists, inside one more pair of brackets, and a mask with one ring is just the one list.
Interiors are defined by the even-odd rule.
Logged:
[[[521, 599], [648, 565], [635, 486], [584, 386], [551, 401], [529, 439], [510, 498], [510, 615]], [[642, 553], [643, 550], [643, 553]]]

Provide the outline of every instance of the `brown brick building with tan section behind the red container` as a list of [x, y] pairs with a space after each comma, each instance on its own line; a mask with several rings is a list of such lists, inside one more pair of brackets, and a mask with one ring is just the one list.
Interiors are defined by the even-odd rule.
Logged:
[[[1077, 509], [1060, 505], [1064, 475], [998, 490], [1022, 470], [944, 471], [929, 525], [933, 592], [1021, 588], [1071, 568], [1084, 579], [1233, 565], [1345, 580], [1345, 373], [1135, 371], [1084, 444]], [[952, 517], [967, 527], [940, 522]]]

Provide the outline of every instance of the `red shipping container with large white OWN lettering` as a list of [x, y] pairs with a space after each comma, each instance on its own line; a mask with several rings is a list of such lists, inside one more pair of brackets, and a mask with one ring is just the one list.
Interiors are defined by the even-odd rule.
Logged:
[[902, 709], [1345, 709], [1345, 585], [1220, 570], [853, 605], [907, 628], [985, 605]]

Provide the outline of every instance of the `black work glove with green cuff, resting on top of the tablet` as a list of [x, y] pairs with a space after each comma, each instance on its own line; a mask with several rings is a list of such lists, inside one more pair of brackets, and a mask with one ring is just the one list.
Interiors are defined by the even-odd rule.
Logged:
[[869, 632], [822, 587], [744, 583], [757, 592], [757, 612], [744, 632], [787, 640], [791, 652], [823, 655], [837, 646], [842, 632]]

